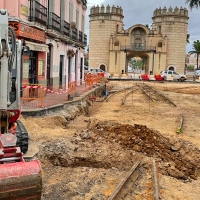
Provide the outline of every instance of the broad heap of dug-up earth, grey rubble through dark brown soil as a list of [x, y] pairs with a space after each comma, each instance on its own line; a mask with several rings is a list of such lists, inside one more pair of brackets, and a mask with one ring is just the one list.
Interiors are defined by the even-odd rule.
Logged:
[[71, 141], [45, 142], [40, 152], [40, 161], [53, 166], [128, 169], [136, 157], [147, 156], [156, 158], [163, 175], [181, 180], [200, 175], [197, 147], [139, 124], [99, 122], [76, 133]]

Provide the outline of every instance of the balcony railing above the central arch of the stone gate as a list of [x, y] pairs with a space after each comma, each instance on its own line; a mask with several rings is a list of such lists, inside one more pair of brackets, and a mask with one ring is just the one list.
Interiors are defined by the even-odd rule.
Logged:
[[132, 43], [131, 45], [121, 45], [121, 51], [155, 51], [155, 46], [146, 46], [144, 43]]

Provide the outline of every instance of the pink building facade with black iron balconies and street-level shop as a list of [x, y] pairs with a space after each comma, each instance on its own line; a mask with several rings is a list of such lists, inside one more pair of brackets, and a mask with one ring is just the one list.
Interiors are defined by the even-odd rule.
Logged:
[[22, 40], [25, 84], [67, 89], [84, 80], [86, 0], [1, 0]]

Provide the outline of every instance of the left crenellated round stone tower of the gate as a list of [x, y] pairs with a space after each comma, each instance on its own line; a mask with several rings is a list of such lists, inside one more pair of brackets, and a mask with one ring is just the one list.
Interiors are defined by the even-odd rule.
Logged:
[[93, 6], [89, 18], [89, 67], [108, 70], [110, 38], [123, 29], [123, 10], [114, 5]]

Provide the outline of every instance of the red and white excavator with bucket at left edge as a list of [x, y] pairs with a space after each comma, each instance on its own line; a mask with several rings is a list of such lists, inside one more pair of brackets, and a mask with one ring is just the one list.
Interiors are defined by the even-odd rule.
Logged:
[[21, 97], [22, 44], [0, 9], [0, 199], [41, 199], [38, 160], [26, 162], [28, 133], [18, 120]]

